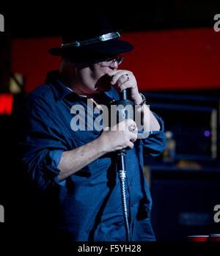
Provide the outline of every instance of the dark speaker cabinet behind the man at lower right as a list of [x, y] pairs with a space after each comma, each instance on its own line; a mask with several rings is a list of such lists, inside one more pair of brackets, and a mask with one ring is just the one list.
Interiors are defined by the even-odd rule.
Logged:
[[150, 191], [157, 241], [186, 241], [187, 235], [220, 233], [220, 222], [214, 219], [214, 207], [220, 205], [218, 170], [150, 169]]

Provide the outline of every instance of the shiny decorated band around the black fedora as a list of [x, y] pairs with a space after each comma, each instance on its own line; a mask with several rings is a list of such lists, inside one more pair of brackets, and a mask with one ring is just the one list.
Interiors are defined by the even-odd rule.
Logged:
[[120, 33], [119, 32], [111, 32], [108, 34], [103, 34], [100, 35], [100, 37], [95, 37], [92, 39], [88, 39], [88, 40], [84, 40], [81, 42], [78, 41], [74, 41], [72, 43], [63, 43], [60, 48], [70, 48], [70, 47], [78, 47], [78, 46], [83, 46], [83, 45], [90, 45], [93, 43], [100, 43], [100, 42], [105, 42], [108, 40], [112, 40], [112, 39], [116, 39], [120, 37]]

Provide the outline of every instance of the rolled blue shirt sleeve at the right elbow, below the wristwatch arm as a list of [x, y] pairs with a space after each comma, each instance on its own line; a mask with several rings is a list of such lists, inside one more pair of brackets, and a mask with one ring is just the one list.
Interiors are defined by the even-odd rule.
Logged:
[[166, 136], [164, 133], [164, 121], [157, 114], [153, 113], [158, 120], [161, 130], [150, 131], [147, 139], [142, 139], [144, 147], [144, 156], [155, 157], [160, 155], [166, 146]]

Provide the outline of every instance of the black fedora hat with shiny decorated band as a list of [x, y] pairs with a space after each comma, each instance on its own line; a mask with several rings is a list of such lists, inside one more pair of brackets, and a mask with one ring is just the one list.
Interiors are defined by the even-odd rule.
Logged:
[[78, 54], [118, 55], [133, 49], [131, 43], [120, 40], [120, 33], [111, 28], [109, 20], [103, 16], [89, 16], [83, 21], [67, 21], [62, 31], [62, 44], [48, 52], [54, 56], [74, 56]]

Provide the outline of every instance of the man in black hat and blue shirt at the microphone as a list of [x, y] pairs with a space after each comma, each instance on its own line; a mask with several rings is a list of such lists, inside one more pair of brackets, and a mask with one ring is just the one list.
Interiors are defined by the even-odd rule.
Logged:
[[[30, 225], [32, 230], [56, 234], [57, 241], [64, 234], [70, 241], [126, 241], [115, 164], [115, 152], [124, 148], [131, 241], [155, 241], [143, 164], [144, 157], [164, 150], [164, 124], [156, 114], [143, 111], [148, 106], [133, 73], [118, 69], [120, 54], [133, 49], [119, 37], [106, 19], [74, 22], [62, 36], [62, 45], [49, 50], [62, 56], [59, 70], [48, 72], [45, 84], [26, 98], [21, 159], [37, 201]], [[137, 139], [139, 127], [131, 119], [114, 128], [91, 126], [89, 118], [98, 117], [95, 108], [119, 100], [124, 89], [136, 106], [142, 106], [144, 132], [150, 134], [146, 138]], [[150, 113], [150, 123], [144, 113]], [[73, 127], [73, 117], [84, 129]]]

